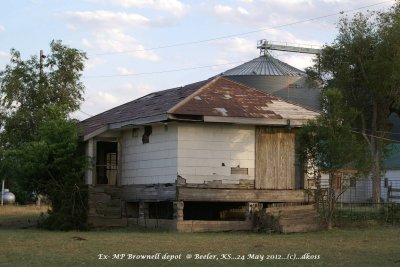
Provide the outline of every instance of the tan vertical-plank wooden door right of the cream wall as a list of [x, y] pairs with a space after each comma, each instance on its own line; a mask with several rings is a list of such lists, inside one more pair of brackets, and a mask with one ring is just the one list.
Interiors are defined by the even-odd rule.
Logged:
[[256, 127], [256, 189], [295, 189], [295, 133]]

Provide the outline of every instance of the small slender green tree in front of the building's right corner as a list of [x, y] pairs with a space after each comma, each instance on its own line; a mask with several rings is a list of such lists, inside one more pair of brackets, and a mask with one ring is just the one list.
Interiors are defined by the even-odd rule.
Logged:
[[[322, 206], [328, 229], [332, 228], [335, 203], [339, 197], [335, 191], [335, 173], [342, 169], [355, 169], [361, 175], [369, 169], [366, 146], [361, 142], [360, 136], [352, 131], [351, 123], [357, 112], [348, 109], [343, 103], [339, 90], [324, 91], [323, 112], [317, 119], [307, 122], [297, 135], [298, 153], [304, 169], [311, 171], [316, 180], [320, 178], [320, 173], [329, 175], [327, 201]], [[316, 193], [320, 200], [325, 197], [320, 188], [317, 188]]]

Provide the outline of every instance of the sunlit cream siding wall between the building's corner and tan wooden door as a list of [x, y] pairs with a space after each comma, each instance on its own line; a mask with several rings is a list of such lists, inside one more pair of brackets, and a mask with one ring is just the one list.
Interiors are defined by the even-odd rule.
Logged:
[[[178, 124], [178, 174], [187, 183], [254, 180], [254, 149], [254, 126]], [[248, 173], [231, 174], [232, 167]]]

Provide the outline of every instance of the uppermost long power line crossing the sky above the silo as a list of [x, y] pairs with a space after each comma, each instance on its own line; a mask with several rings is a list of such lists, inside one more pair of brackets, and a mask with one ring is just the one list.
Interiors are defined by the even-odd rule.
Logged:
[[228, 38], [237, 37], [237, 36], [249, 35], [249, 34], [253, 34], [253, 33], [257, 33], [257, 32], [262, 32], [262, 31], [265, 31], [265, 30], [272, 30], [272, 29], [278, 29], [278, 28], [293, 26], [293, 25], [296, 25], [296, 24], [301, 24], [301, 23], [305, 23], [305, 22], [311, 22], [311, 21], [320, 20], [320, 19], [324, 19], [324, 18], [329, 18], [329, 17], [333, 17], [333, 16], [337, 16], [337, 15], [343, 15], [343, 14], [346, 14], [346, 13], [351, 13], [351, 12], [354, 12], [354, 11], [357, 11], [357, 10], [370, 8], [370, 7], [386, 4], [386, 3], [389, 3], [389, 2], [393, 2], [393, 1], [395, 1], [395, 0], [383, 1], [383, 2], [379, 2], [379, 3], [367, 5], [367, 6], [353, 8], [353, 9], [340, 11], [340, 12], [336, 12], [336, 13], [332, 13], [332, 14], [327, 14], [327, 15], [324, 15], [324, 16], [318, 16], [318, 17], [314, 17], [314, 18], [310, 18], [310, 19], [299, 20], [299, 21], [295, 21], [295, 22], [291, 22], [291, 23], [286, 23], [286, 24], [274, 26], [274, 27], [260, 28], [260, 29], [253, 30], [253, 31], [247, 31], [247, 32], [236, 33], [236, 34], [229, 34], [229, 35], [223, 35], [223, 36], [214, 37], [214, 38], [208, 38], [208, 39], [203, 39], [203, 40], [189, 41], [189, 42], [176, 43], [176, 44], [170, 44], [170, 45], [155, 46], [155, 47], [143, 48], [143, 49], [126, 50], [126, 51], [119, 51], [119, 52], [96, 53], [96, 54], [92, 54], [92, 55], [93, 56], [106, 56], [106, 55], [126, 54], [126, 53], [133, 53], [133, 52], [144, 52], [144, 51], [150, 51], [150, 50], [156, 50], [156, 49], [165, 49], [165, 48], [172, 48], [172, 47], [179, 47], [179, 46], [187, 46], [187, 45], [208, 43], [208, 42], [212, 42], [212, 41], [223, 40], [223, 39], [228, 39]]

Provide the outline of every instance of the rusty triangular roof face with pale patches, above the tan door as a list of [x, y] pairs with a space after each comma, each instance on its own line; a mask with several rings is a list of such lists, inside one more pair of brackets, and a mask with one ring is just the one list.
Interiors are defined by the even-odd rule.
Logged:
[[210, 81], [169, 113], [270, 119], [311, 119], [318, 115], [310, 109], [224, 77]]

